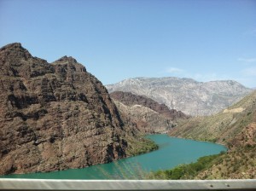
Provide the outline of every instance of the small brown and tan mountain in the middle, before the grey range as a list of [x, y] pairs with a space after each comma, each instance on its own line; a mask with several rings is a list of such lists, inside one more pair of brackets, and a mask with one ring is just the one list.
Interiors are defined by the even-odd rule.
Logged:
[[176, 125], [178, 119], [188, 117], [166, 105], [145, 97], [131, 94], [131, 92], [115, 91], [110, 94], [123, 114], [123, 118], [132, 121], [144, 133], [164, 133]]

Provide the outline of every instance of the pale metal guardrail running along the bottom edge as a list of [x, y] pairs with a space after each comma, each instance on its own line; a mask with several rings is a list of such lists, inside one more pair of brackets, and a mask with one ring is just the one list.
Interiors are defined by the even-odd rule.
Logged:
[[256, 190], [246, 180], [56, 180], [0, 179], [0, 190]]

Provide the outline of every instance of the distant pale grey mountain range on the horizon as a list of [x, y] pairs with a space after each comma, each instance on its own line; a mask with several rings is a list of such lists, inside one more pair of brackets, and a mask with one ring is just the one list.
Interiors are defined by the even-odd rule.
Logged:
[[252, 90], [236, 81], [196, 82], [190, 78], [130, 78], [106, 85], [109, 92], [125, 91], [147, 96], [170, 109], [191, 116], [218, 113]]

